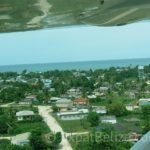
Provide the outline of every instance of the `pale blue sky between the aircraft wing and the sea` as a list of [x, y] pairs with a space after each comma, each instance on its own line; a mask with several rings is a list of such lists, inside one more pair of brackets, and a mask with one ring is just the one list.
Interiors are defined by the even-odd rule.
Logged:
[[150, 22], [0, 34], [0, 65], [128, 58], [150, 58]]

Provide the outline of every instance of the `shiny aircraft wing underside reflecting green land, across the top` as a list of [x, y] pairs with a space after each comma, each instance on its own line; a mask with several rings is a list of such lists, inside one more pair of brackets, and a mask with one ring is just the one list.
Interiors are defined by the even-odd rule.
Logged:
[[150, 18], [150, 0], [0, 0], [0, 32], [117, 26]]

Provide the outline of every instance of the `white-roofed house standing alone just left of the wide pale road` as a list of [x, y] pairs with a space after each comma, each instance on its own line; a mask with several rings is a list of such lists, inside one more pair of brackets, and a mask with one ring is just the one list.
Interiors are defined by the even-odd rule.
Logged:
[[19, 111], [16, 113], [18, 121], [32, 120], [33, 116], [34, 112], [29, 110]]

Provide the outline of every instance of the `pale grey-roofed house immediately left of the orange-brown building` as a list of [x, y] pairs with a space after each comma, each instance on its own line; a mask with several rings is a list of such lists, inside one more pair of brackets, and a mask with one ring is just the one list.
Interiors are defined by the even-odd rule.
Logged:
[[67, 111], [72, 108], [73, 102], [70, 99], [60, 99], [56, 101], [56, 106], [60, 111]]

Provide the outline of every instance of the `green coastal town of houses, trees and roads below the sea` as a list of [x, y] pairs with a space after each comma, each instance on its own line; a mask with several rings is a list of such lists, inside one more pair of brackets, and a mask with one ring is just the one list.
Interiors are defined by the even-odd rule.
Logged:
[[138, 150], [149, 116], [150, 66], [0, 73], [2, 150]]

